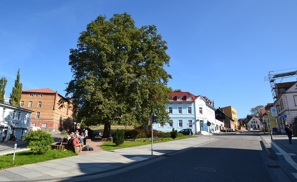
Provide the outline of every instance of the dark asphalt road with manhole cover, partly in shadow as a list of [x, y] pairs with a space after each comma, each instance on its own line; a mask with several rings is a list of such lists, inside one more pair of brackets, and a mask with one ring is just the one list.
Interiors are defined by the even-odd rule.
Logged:
[[[275, 172], [272, 170], [277, 169], [265, 165], [265, 151], [262, 150], [257, 133], [212, 137], [219, 140], [170, 154], [164, 160], [121, 174], [95, 178], [92, 182], [278, 181], [270, 175]], [[281, 174], [282, 171], [278, 170]], [[80, 180], [89, 181], [83, 180], [83, 177]]]

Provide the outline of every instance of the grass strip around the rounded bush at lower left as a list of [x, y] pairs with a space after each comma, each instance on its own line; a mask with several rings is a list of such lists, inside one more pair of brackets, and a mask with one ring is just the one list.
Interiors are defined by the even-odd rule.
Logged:
[[60, 159], [64, 157], [76, 156], [77, 154], [70, 150], [48, 150], [47, 153], [43, 155], [35, 155], [30, 150], [16, 152], [15, 153], [15, 162], [13, 161], [13, 153], [0, 156], [0, 170], [22, 166], [25, 164], [32, 164], [38, 162], [44, 162], [47, 160]]

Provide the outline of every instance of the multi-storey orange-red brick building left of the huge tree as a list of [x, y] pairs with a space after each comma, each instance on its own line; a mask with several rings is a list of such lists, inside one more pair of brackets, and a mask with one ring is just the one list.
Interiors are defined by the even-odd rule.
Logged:
[[51, 89], [22, 90], [21, 107], [34, 110], [30, 129], [41, 129], [48, 132], [71, 129], [73, 126], [72, 107], [65, 103], [59, 108], [58, 102], [64, 98]]

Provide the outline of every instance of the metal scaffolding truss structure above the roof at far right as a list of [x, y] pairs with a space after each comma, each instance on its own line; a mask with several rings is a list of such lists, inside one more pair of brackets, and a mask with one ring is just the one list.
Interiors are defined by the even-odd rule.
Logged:
[[269, 83], [270, 83], [273, 102], [275, 102], [277, 99], [276, 92], [275, 92], [275, 89], [276, 89], [275, 88], [275, 80], [297, 76], [297, 70], [289, 71], [289, 72], [282, 72], [282, 73], [275, 73], [275, 72], [280, 72], [280, 71], [284, 71], [284, 70], [292, 70], [292, 69], [297, 69], [297, 68], [283, 69], [283, 70], [278, 70], [278, 71], [270, 71], [270, 72], [268, 72], [268, 76], [264, 77], [264, 81], [269, 81]]

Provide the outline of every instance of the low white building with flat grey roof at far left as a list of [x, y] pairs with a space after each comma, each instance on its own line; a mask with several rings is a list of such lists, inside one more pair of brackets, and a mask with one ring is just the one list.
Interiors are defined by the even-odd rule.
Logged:
[[28, 134], [31, 114], [34, 111], [0, 103], [0, 139], [9, 140], [14, 134], [17, 140]]

